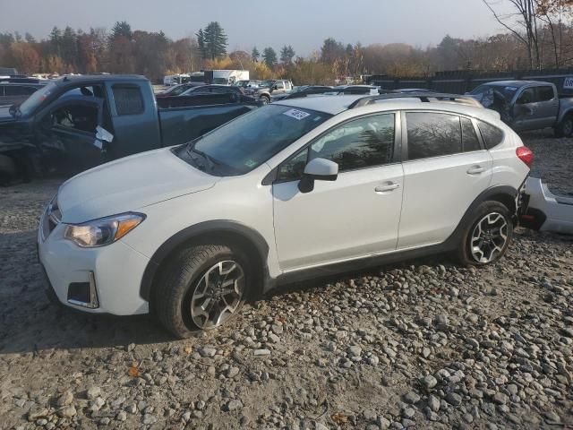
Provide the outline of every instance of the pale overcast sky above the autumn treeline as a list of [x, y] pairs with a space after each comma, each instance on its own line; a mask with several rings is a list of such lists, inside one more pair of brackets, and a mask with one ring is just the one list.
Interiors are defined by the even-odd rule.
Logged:
[[218, 21], [229, 50], [290, 44], [301, 56], [329, 37], [427, 47], [446, 34], [468, 39], [501, 30], [482, 0], [0, 0], [0, 31], [28, 31], [37, 39], [55, 25], [109, 30], [116, 21], [172, 39]]

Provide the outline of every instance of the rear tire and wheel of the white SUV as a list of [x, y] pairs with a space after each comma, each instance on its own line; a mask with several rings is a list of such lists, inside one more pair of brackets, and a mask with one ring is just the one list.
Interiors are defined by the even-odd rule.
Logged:
[[458, 259], [464, 265], [485, 266], [498, 262], [513, 236], [509, 209], [500, 202], [483, 202], [464, 229]]

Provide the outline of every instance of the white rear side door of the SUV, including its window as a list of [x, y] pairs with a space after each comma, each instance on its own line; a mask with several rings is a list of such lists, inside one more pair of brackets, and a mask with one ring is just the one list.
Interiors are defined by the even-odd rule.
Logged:
[[403, 113], [404, 199], [398, 249], [438, 244], [492, 180], [475, 121], [446, 112]]

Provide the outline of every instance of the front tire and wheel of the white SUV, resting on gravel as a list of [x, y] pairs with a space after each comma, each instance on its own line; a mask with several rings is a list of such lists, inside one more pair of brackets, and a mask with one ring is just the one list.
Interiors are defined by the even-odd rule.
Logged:
[[177, 338], [231, 321], [249, 293], [246, 255], [227, 245], [196, 245], [177, 254], [156, 288], [154, 313]]

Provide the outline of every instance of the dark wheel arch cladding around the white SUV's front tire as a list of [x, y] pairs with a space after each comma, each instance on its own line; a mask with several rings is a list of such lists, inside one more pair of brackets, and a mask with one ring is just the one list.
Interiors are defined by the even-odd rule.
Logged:
[[153, 254], [141, 279], [140, 296], [150, 301], [153, 288], [159, 279], [161, 269], [170, 261], [170, 256], [179, 252], [184, 246], [204, 243], [218, 243], [239, 246], [253, 261], [257, 276], [257, 286], [261, 288], [262, 280], [268, 273], [267, 257], [269, 245], [261, 234], [244, 224], [232, 220], [220, 219], [206, 221], [184, 228], [169, 237]]

